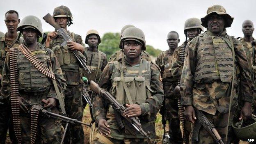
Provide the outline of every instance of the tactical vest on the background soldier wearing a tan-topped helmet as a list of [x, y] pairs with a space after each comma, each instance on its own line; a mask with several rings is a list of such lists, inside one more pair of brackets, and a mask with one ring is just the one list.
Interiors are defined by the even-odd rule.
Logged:
[[[91, 73], [84, 73], [84, 76], [89, 80], [93, 80], [95, 82], [98, 82], [99, 76], [101, 75], [101, 67], [103, 65], [103, 58], [101, 55], [103, 54], [101, 51], [98, 50], [98, 52], [93, 52], [91, 50], [88, 50], [88, 48], [85, 49], [88, 61], [87, 66], [91, 70]], [[96, 78], [96, 80], [95, 80]]]

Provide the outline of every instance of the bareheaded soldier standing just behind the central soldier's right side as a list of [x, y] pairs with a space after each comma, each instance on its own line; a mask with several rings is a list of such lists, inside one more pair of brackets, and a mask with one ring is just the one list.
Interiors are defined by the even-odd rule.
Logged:
[[180, 121], [178, 119], [178, 101], [174, 97], [172, 91], [178, 85], [178, 79], [173, 78], [171, 74], [171, 65], [173, 60], [174, 50], [177, 48], [180, 39], [178, 33], [171, 31], [167, 35], [167, 43], [169, 49], [160, 53], [155, 62], [161, 69], [161, 75], [165, 92], [165, 107], [164, 112], [161, 111], [165, 120], [169, 121], [169, 136], [171, 144], [182, 144]]

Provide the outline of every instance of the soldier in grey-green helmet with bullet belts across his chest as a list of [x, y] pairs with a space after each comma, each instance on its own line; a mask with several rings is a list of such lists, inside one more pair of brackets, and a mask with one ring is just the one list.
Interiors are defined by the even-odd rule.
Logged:
[[[18, 143], [39, 144], [42, 138], [43, 144], [59, 144], [64, 130], [61, 122], [38, 116], [39, 111], [26, 105], [42, 105], [58, 114], [59, 102], [55, 91], [63, 89], [65, 85], [55, 54], [37, 43], [37, 39], [42, 36], [41, 26], [36, 16], [26, 16], [18, 25], [17, 31], [23, 34], [25, 42], [18, 48], [10, 48], [6, 55], [1, 95], [11, 103], [11, 113], [15, 119], [12, 122]], [[53, 86], [54, 77], [58, 81], [56, 87]], [[15, 110], [18, 105], [20, 110], [17, 114]]]

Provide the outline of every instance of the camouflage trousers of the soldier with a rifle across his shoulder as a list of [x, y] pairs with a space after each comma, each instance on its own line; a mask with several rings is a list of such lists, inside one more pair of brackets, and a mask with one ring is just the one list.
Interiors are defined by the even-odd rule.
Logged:
[[[82, 86], [67, 87], [64, 91], [66, 114], [71, 119], [82, 121], [83, 117], [83, 103], [82, 103]], [[63, 123], [65, 126], [66, 123]], [[82, 124], [69, 124], [65, 136], [64, 144], [83, 144], [85, 139]]]

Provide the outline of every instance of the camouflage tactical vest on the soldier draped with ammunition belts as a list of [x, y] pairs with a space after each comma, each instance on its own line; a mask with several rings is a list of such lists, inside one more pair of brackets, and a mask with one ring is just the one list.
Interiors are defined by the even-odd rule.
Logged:
[[[40, 44], [40, 47], [43, 46]], [[45, 48], [41, 50], [34, 50], [32, 53], [39, 61], [48, 67], [48, 60], [50, 56]], [[18, 82], [19, 89], [27, 92], [38, 91], [38, 89], [49, 89], [51, 86], [51, 80], [38, 71], [35, 66], [23, 55], [21, 50], [18, 50], [17, 56], [17, 69], [18, 69]]]

